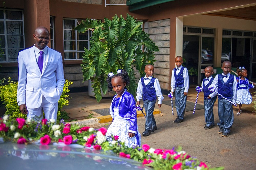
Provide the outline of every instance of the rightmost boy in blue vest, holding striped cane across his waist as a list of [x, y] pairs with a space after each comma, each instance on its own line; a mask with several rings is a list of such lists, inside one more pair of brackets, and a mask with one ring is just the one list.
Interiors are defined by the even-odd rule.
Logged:
[[[212, 85], [209, 87], [216, 88], [218, 93], [223, 95], [225, 98], [232, 100], [233, 103], [236, 103], [237, 81], [236, 76], [229, 73], [231, 70], [231, 62], [224, 61], [221, 69], [223, 70], [223, 73], [218, 74], [214, 78]], [[225, 100], [221, 96], [218, 96], [218, 113], [220, 120], [220, 122], [217, 123], [220, 128], [218, 133], [223, 137], [227, 137], [234, 121], [233, 107], [229, 101]]]

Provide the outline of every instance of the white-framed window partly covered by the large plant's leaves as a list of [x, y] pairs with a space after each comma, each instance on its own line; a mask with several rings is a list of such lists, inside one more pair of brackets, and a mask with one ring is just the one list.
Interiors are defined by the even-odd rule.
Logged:
[[91, 31], [79, 33], [73, 30], [81, 20], [63, 19], [65, 60], [82, 59], [84, 48], [89, 49]]

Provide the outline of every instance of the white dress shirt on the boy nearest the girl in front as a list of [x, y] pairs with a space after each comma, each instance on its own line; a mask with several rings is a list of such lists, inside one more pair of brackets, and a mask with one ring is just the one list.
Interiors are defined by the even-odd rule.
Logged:
[[[151, 79], [152, 79], [152, 76], [143, 77], [144, 84], [147, 85], [151, 81]], [[155, 90], [156, 90], [156, 96], [158, 97], [158, 104], [162, 104], [162, 100], [164, 100], [164, 97], [162, 95], [162, 91], [161, 91], [161, 87], [160, 87], [158, 79], [155, 80], [154, 87], [155, 87]], [[143, 95], [143, 86], [142, 86], [142, 83], [141, 83], [141, 79], [138, 82], [138, 87], [137, 87], [136, 94], [137, 94], [137, 96], [136, 96], [137, 101], [140, 101], [140, 99], [142, 99], [142, 95]]]

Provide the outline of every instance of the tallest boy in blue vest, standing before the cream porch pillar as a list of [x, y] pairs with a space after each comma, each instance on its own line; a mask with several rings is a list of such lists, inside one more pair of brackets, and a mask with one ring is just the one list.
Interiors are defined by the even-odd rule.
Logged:
[[172, 71], [171, 78], [171, 93], [175, 90], [175, 105], [177, 111], [177, 118], [174, 123], [183, 122], [185, 108], [187, 103], [187, 95], [189, 88], [188, 69], [182, 66], [183, 58], [177, 56], [175, 58], [176, 67]]

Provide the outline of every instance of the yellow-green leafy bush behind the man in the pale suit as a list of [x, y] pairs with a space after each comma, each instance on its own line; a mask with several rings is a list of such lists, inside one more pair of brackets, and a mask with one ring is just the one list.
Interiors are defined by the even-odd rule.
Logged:
[[[0, 86], [0, 99], [5, 105], [6, 108], [6, 115], [10, 115], [10, 119], [16, 119], [18, 117], [20, 118], [26, 118], [27, 115], [22, 114], [19, 110], [19, 106], [17, 104], [17, 88], [18, 88], [18, 82], [11, 81], [11, 78], [8, 78], [8, 84]], [[70, 90], [68, 89], [68, 86], [73, 84], [73, 82], [69, 82], [66, 80], [63, 92], [60, 96], [60, 100], [58, 102], [58, 114], [57, 119], [67, 119], [67, 113], [65, 111], [61, 111], [63, 106], [67, 106], [69, 101], [66, 99], [69, 97], [67, 94]]]

